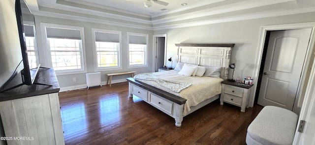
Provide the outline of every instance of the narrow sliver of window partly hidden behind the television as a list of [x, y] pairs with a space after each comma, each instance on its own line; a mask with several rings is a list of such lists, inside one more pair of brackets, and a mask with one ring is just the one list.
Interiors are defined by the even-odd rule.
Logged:
[[34, 32], [35, 25], [24, 24], [25, 42], [28, 51], [29, 66], [30, 68], [37, 67], [37, 46]]

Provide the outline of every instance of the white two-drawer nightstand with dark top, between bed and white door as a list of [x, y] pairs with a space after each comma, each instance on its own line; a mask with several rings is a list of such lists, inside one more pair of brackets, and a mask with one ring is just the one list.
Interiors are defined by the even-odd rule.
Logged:
[[241, 112], [245, 112], [245, 109], [248, 108], [248, 102], [253, 85], [242, 85], [228, 80], [224, 80], [221, 83], [222, 92], [220, 104], [223, 105], [223, 102], [233, 104], [241, 107]]

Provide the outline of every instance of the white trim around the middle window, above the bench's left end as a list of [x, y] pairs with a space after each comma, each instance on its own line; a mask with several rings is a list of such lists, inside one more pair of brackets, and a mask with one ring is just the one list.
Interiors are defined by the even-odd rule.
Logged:
[[[98, 68], [97, 67], [97, 53], [96, 53], [96, 46], [95, 46], [95, 31], [101, 31], [101, 32], [109, 32], [109, 33], [118, 33], [119, 34], [119, 62], [117, 67], [104, 67], [104, 68]], [[122, 31], [115, 31], [115, 30], [107, 30], [107, 29], [97, 29], [97, 28], [92, 28], [92, 43], [93, 43], [93, 56], [94, 56], [94, 71], [99, 72], [99, 71], [113, 71], [113, 70], [122, 70], [123, 69], [123, 57], [122, 57]]]

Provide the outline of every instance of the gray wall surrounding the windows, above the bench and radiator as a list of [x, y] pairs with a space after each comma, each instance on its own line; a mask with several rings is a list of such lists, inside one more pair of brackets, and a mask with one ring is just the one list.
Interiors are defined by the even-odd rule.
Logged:
[[[35, 27], [36, 27], [36, 35], [37, 35], [37, 44], [39, 49], [39, 62], [41, 66], [47, 66], [47, 62], [45, 57], [43, 57], [44, 51], [47, 51], [46, 46], [43, 45], [43, 39], [45, 38], [44, 32], [41, 32], [40, 23], [49, 23], [49, 24], [63, 24], [63, 25], [72, 25], [72, 26], [82, 26], [84, 27], [84, 37], [85, 37], [85, 50], [86, 50], [86, 63], [87, 63], [87, 73], [93, 73], [94, 71], [94, 54], [93, 54], [93, 40], [92, 40], [92, 28], [99, 28], [99, 29], [109, 29], [109, 30], [117, 30], [122, 31], [122, 70], [116, 71], [105, 71], [101, 72], [101, 81], [106, 82], [107, 77], [106, 73], [115, 73], [115, 72], [125, 72], [125, 71], [136, 71], [136, 73], [146, 73], [152, 72], [153, 68], [153, 31], [151, 30], [143, 30], [143, 29], [135, 29], [135, 28], [127, 28], [122, 26], [115, 26], [115, 25], [108, 25], [108, 24], [96, 24], [96, 23], [89, 23], [83, 21], [74, 21], [74, 20], [66, 20], [66, 19], [59, 19], [59, 18], [51, 18], [51, 17], [43, 17], [43, 16], [35, 16]], [[148, 67], [145, 68], [136, 68], [136, 69], [127, 69], [127, 32], [136, 32], [136, 33], [145, 33], [149, 34], [149, 47], [148, 47]], [[73, 77], [77, 78], [76, 82], [73, 82]], [[126, 81], [126, 77], [124, 76], [115, 76], [113, 77], [113, 82], [115, 81]], [[58, 75], [57, 76], [58, 82], [60, 87], [67, 88], [82, 88], [86, 86], [86, 77], [85, 73], [80, 74], [71, 74], [71, 75]]]

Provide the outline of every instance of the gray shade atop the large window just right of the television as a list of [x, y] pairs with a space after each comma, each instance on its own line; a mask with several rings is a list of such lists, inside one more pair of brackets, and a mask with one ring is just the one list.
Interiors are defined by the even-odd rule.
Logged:
[[81, 40], [81, 31], [77, 29], [46, 27], [46, 34], [47, 38], [66, 38]]

